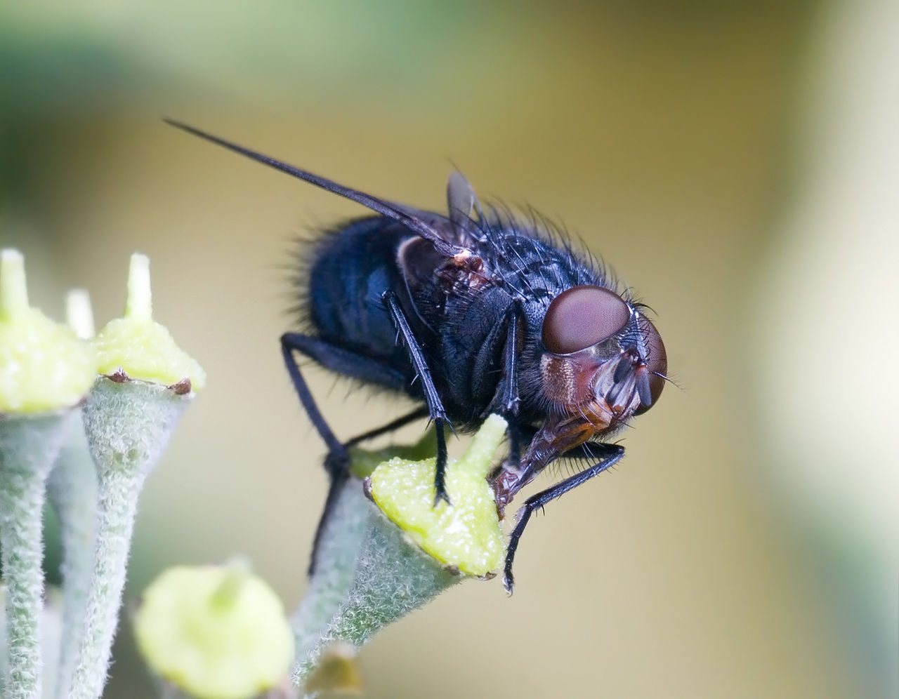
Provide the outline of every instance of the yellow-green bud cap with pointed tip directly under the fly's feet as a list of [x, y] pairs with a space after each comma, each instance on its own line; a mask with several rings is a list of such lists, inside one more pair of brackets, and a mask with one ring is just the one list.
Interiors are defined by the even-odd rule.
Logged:
[[503, 562], [503, 529], [486, 476], [505, 429], [503, 418], [490, 416], [467, 452], [449, 462], [446, 485], [452, 505], [441, 501], [434, 507], [436, 459], [393, 458], [370, 476], [378, 508], [423, 551], [468, 575], [486, 575]]

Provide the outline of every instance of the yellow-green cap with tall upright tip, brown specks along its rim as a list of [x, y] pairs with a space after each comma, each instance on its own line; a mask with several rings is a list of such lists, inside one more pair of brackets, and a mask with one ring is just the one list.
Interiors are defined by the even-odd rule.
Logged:
[[174, 385], [188, 379], [193, 390], [206, 385], [206, 372], [196, 359], [175, 344], [164, 325], [153, 320], [150, 261], [131, 255], [128, 302], [121, 318], [106, 323], [93, 339], [100, 373], [123, 371], [129, 378]]

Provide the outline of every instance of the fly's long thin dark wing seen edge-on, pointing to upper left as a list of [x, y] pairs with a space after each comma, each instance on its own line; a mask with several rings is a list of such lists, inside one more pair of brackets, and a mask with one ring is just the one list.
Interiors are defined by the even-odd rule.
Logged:
[[355, 201], [357, 204], [361, 204], [363, 207], [370, 208], [372, 211], [377, 212], [381, 216], [393, 218], [395, 221], [399, 221], [404, 226], [407, 226], [415, 233], [421, 235], [425, 240], [433, 243], [434, 247], [437, 249], [437, 252], [441, 252], [441, 254], [452, 257], [453, 255], [458, 255], [462, 252], [465, 252], [465, 248], [462, 248], [459, 245], [455, 245], [453, 243], [449, 243], [433, 226], [430, 226], [421, 218], [414, 217], [403, 209], [396, 207], [395, 204], [391, 204], [384, 199], [378, 199], [371, 194], [366, 194], [364, 191], [353, 190], [351, 187], [344, 187], [343, 184], [338, 184], [337, 182], [328, 180], [325, 177], [319, 177], [316, 174], [309, 173], [306, 170], [301, 170], [298, 167], [294, 167], [293, 165], [284, 163], [280, 160], [269, 157], [268, 155], [263, 155], [262, 153], [250, 150], [249, 148], [245, 148], [244, 146], [238, 146], [236, 143], [227, 141], [224, 138], [213, 136], [206, 131], [201, 131], [199, 128], [193, 128], [192, 126], [188, 126], [181, 121], [175, 121], [174, 119], [167, 118], [164, 118], [163, 121], [165, 121], [165, 123], [169, 124], [170, 126], [174, 126], [174, 128], [180, 128], [182, 131], [186, 131], [193, 136], [203, 138], [210, 143], [216, 144], [217, 146], [222, 146], [223, 148], [227, 148], [228, 150], [234, 151], [235, 153], [238, 153], [240, 155], [245, 155], [245, 157], [248, 157], [251, 160], [255, 160], [257, 163], [268, 165], [269, 167], [273, 167], [275, 170], [280, 170], [280, 172], [282, 173], [288, 173], [289, 175], [293, 175], [300, 180], [307, 181], [310, 184], [314, 184], [316, 185], [316, 187], [320, 187], [323, 190], [330, 191], [334, 194], [337, 194], [338, 196], [344, 197], [345, 199]]

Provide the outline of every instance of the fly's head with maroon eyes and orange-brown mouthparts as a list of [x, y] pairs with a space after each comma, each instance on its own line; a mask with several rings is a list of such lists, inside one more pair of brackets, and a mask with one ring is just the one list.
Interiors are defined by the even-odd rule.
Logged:
[[662, 394], [662, 338], [640, 306], [610, 289], [574, 287], [556, 296], [542, 341], [540, 384], [552, 410], [531, 445], [531, 463], [613, 432]]

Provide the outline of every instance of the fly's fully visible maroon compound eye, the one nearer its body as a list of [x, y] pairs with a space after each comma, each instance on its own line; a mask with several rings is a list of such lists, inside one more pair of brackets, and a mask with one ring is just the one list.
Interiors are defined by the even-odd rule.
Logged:
[[608, 340], [628, 324], [630, 308], [601, 287], [573, 287], [553, 299], [543, 319], [543, 344], [568, 354]]

